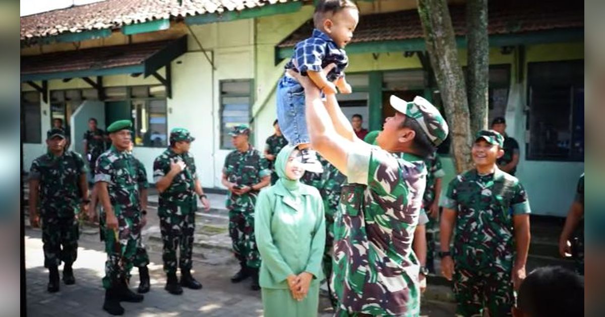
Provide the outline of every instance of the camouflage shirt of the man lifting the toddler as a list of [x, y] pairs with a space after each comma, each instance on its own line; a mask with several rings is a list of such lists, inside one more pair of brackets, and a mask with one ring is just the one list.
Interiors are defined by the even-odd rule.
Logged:
[[[340, 308], [369, 315], [420, 313], [411, 245], [422, 207], [422, 159], [359, 146], [348, 155], [334, 225], [332, 285]], [[357, 183], [357, 184], [355, 184]]]

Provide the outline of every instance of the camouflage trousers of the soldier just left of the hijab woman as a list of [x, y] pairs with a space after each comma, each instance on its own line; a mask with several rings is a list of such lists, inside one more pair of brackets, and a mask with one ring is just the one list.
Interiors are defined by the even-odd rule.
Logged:
[[254, 237], [254, 207], [229, 210], [229, 235], [235, 258], [248, 267], [258, 269], [261, 255]]

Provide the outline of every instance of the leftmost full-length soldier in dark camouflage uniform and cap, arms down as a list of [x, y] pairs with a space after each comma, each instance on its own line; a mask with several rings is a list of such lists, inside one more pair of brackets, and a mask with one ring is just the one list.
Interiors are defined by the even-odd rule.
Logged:
[[88, 205], [86, 165], [78, 153], [65, 150], [65, 132], [53, 128], [47, 133], [48, 153], [34, 159], [30, 168], [29, 212], [31, 226], [42, 217], [44, 267], [48, 268], [48, 292], [59, 291], [59, 269], [63, 267], [63, 281], [76, 283], [72, 264], [77, 258], [79, 237], [78, 214]]

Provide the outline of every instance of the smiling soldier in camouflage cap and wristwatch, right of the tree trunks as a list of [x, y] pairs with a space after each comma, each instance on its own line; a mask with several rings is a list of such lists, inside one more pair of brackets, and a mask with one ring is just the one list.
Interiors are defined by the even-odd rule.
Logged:
[[484, 307], [490, 316], [511, 316], [513, 289], [525, 278], [529, 201], [518, 179], [496, 165], [503, 142], [494, 130], [479, 131], [472, 149], [476, 168], [454, 178], [441, 202], [441, 269], [454, 280], [462, 316], [482, 316]]

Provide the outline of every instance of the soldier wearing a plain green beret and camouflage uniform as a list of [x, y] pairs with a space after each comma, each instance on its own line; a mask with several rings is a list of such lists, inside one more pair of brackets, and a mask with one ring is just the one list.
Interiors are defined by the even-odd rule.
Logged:
[[143, 301], [143, 295], [128, 288], [130, 270], [137, 248], [141, 246], [141, 228], [146, 223], [140, 204], [137, 162], [128, 151], [131, 127], [130, 120], [119, 120], [107, 128], [112, 145], [99, 156], [94, 176], [99, 201], [105, 211], [107, 261], [103, 309], [111, 315], [124, 313], [120, 301]]

